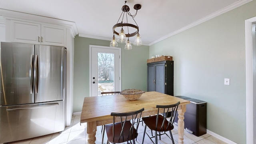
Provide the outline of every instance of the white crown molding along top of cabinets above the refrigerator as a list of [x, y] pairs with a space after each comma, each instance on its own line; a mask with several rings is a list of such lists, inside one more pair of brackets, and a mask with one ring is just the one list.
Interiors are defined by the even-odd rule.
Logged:
[[[45, 23], [45, 24], [57, 24], [60, 26], [65, 26], [67, 28], [70, 28], [72, 31], [72, 34], [76, 36], [78, 34], [78, 30], [76, 27], [75, 22], [67, 21], [67, 20], [60, 20], [56, 18], [50, 18], [50, 17], [45, 17], [45, 16], [38, 16], [34, 14], [28, 14], [28, 13], [23, 13], [23, 12], [16, 12], [12, 10], [5, 10], [0, 8], [0, 15], [2, 15], [6, 19], [10, 20], [27, 20], [31, 22], [40, 22], [40, 23]], [[0, 18], [1, 22], [1, 18]]]

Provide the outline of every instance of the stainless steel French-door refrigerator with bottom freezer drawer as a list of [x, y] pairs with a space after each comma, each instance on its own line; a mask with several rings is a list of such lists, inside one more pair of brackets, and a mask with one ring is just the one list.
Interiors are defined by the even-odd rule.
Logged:
[[66, 126], [66, 48], [1, 42], [0, 143]]

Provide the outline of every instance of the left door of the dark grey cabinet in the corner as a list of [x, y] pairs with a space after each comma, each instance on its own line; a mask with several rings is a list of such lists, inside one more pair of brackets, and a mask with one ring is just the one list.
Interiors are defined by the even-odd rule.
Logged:
[[148, 92], [155, 91], [155, 67], [148, 65]]

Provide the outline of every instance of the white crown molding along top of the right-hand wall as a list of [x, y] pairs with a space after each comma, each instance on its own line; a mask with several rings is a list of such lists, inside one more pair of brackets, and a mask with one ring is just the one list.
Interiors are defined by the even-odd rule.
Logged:
[[164, 39], [166, 39], [166, 38], [169, 38], [169, 37], [171, 37], [171, 36], [174, 36], [175, 34], [178, 34], [178, 33], [180, 33], [180, 32], [183, 32], [183, 31], [185, 31], [185, 30], [188, 30], [189, 28], [192, 28], [192, 27], [194, 27], [194, 26], [197, 26], [198, 24], [201, 24], [201, 23], [203, 23], [203, 22], [206, 22], [206, 21], [208, 21], [208, 20], [210, 20], [210, 19], [212, 19], [212, 18], [215, 18], [216, 16], [219, 16], [219, 15], [221, 15], [221, 14], [224, 14], [225, 12], [228, 12], [228, 11], [230, 11], [230, 10], [233, 10], [233, 9], [235, 9], [235, 8], [238, 8], [239, 6], [242, 6], [242, 5], [244, 5], [244, 4], [248, 3], [248, 2], [251, 2], [251, 1], [252, 1], [252, 0], [238, 0], [238, 1], [235, 2], [234, 4], [231, 4], [231, 5], [229, 5], [229, 6], [225, 7], [225, 8], [222, 8], [221, 10], [218, 10], [217, 12], [214, 12], [214, 13], [212, 13], [212, 14], [210, 14], [210, 15], [208, 15], [208, 16], [206, 16], [206, 17], [204, 17], [204, 18], [202, 18], [202, 19], [200, 19], [200, 20], [198, 20], [198, 21], [196, 21], [196, 22], [193, 22], [193, 23], [191, 23], [191, 24], [189, 24], [189, 25], [187, 25], [187, 26], [185, 26], [185, 27], [183, 27], [183, 28], [180, 28], [179, 30], [176, 30], [176, 31], [174, 31], [174, 32], [172, 32], [172, 33], [170, 33], [170, 34], [167, 34], [166, 36], [163, 36], [162, 38], [159, 38], [159, 39], [157, 39], [157, 40], [155, 40], [155, 41], [153, 41], [153, 42], [150, 42], [150, 43], [149, 43], [149, 46], [151, 46], [152, 44], [156, 44], [157, 42], [160, 42], [160, 41], [162, 41], [162, 40], [164, 40]]

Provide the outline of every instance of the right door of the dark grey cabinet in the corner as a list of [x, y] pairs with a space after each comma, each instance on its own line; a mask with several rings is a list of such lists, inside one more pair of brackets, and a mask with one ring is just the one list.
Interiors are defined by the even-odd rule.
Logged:
[[156, 92], [165, 94], [165, 63], [156, 64]]

